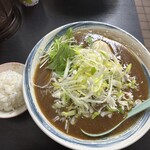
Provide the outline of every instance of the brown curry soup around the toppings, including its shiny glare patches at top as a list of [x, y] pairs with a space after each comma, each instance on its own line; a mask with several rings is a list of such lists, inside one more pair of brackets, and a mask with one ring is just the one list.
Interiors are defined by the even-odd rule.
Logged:
[[[95, 42], [97, 40], [102, 40], [101, 33], [97, 29], [79, 29], [75, 32], [73, 32], [73, 35], [77, 41], [78, 44], [82, 45], [82, 47], [87, 47], [88, 42], [85, 40], [88, 35], [92, 37], [92, 40]], [[109, 38], [109, 37], [108, 37]], [[91, 39], [89, 39], [91, 40]], [[113, 39], [112, 39], [113, 40]], [[138, 59], [130, 52], [129, 49], [127, 49], [125, 46], [119, 46], [115, 50], [110, 46], [111, 40], [105, 41], [109, 47], [111, 48], [112, 52], [115, 55], [119, 56], [120, 62], [122, 65], [126, 64], [132, 64], [131, 76], [135, 76], [136, 82], [138, 85], [138, 90], [133, 89], [133, 97], [134, 100], [141, 99], [145, 100], [148, 98], [148, 81], [146, 78], [146, 75], [143, 71], [143, 68], [138, 61]], [[65, 130], [65, 122], [63, 121], [54, 121], [54, 118], [58, 115], [56, 112], [56, 109], [54, 109], [52, 106], [54, 104], [55, 98], [52, 96], [51, 92], [45, 92], [44, 89], [39, 88], [39, 86], [46, 85], [52, 75], [52, 71], [50, 69], [47, 69], [46, 66], [48, 65], [48, 62], [44, 64], [43, 67], [40, 67], [40, 64], [36, 68], [36, 72], [34, 75], [34, 90], [36, 94], [36, 99], [38, 102], [38, 105], [45, 115], [45, 117], [49, 120], [51, 124], [53, 124], [56, 128], [61, 130], [62, 132], [69, 134], [73, 137], [80, 138], [80, 139], [94, 139], [93, 137], [88, 137], [84, 135], [80, 129], [83, 129], [89, 133], [100, 133], [109, 130], [110, 128], [114, 127], [116, 124], [118, 124], [123, 117], [125, 117], [126, 114], [122, 114], [118, 111], [113, 112], [113, 115], [111, 117], [108, 116], [97, 116], [94, 119], [88, 118], [88, 117], [79, 117], [74, 125], [69, 125], [68, 131]], [[36, 86], [38, 85], [38, 86]], [[130, 89], [127, 89], [126, 91], [130, 91]], [[119, 132], [123, 132], [127, 130], [129, 127], [131, 127], [135, 122], [138, 120], [141, 114], [138, 114], [127, 121], [125, 121], [120, 127], [118, 127], [115, 131], [113, 131], [110, 135], [118, 134]]]

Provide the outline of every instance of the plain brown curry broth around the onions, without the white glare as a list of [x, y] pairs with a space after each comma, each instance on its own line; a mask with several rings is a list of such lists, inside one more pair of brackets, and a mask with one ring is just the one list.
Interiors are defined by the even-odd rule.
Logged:
[[[93, 31], [94, 32], [94, 31]], [[97, 33], [97, 31], [95, 31]], [[83, 41], [84, 36], [80, 33], [80, 35], [75, 36], [79, 41]], [[147, 79], [145, 77], [145, 74], [143, 72], [143, 69], [138, 62], [138, 60], [133, 57], [127, 51], [126, 49], [122, 48], [120, 50], [120, 55], [122, 58], [122, 62], [124, 63], [132, 63], [132, 70], [131, 75], [136, 76], [137, 82], [139, 84], [139, 91], [134, 91], [134, 98], [138, 99], [146, 99], [148, 96], [148, 83]], [[34, 83], [38, 85], [44, 85], [47, 83], [47, 81], [50, 78], [50, 71], [46, 70], [44, 67], [39, 69], [39, 66], [36, 69]], [[35, 94], [37, 98], [37, 102], [40, 106], [40, 109], [44, 113], [45, 117], [58, 129], [60, 129], [63, 132], [66, 132], [64, 130], [64, 123], [60, 121], [54, 122], [53, 119], [57, 115], [55, 113], [55, 110], [52, 108], [54, 98], [51, 96], [51, 94], [43, 95], [41, 92], [41, 89], [35, 87]], [[119, 132], [122, 132], [129, 127], [131, 127], [140, 117], [139, 115], [136, 115], [130, 119], [128, 119], [126, 122], [124, 122], [120, 127], [118, 127], [115, 131], [113, 131], [110, 135], [117, 134]], [[119, 113], [115, 113], [112, 118], [108, 117], [96, 117], [95, 119], [91, 120], [88, 118], [79, 118], [75, 125], [70, 125], [69, 127], [69, 135], [81, 138], [81, 139], [91, 139], [90, 137], [85, 136], [81, 131], [80, 128], [84, 129], [85, 131], [88, 131], [90, 133], [99, 133], [106, 131], [116, 124], [118, 124], [123, 119], [123, 116]]]

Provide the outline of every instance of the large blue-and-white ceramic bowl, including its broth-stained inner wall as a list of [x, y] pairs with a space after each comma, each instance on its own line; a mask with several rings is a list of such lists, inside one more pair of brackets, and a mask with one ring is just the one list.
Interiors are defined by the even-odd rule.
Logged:
[[[46, 36], [44, 36], [32, 49], [30, 55], [27, 58], [24, 71], [24, 80], [23, 80], [23, 92], [25, 102], [28, 108], [28, 111], [39, 126], [39, 128], [47, 134], [51, 139], [62, 144], [71, 149], [77, 150], [115, 150], [122, 149], [127, 147], [138, 139], [140, 139], [148, 130], [150, 129], [150, 109], [146, 110], [143, 115], [138, 119], [138, 121], [132, 125], [129, 129], [114, 136], [105, 136], [97, 140], [81, 140], [70, 135], [67, 135], [56, 127], [54, 127], [42, 113], [38, 102], [36, 100], [33, 78], [35, 74], [35, 69], [39, 63], [39, 55], [41, 54], [41, 49], [46, 49], [46, 46], [51, 43], [53, 38], [56, 35], [62, 35], [68, 28], [78, 29], [78, 28], [98, 28], [101, 30], [103, 35], [107, 35], [115, 41], [126, 45], [140, 60], [143, 70], [147, 70], [147, 80], [148, 88], [150, 88], [150, 53], [148, 50], [132, 35], [126, 31], [112, 26], [110, 24], [105, 24], [102, 22], [75, 22], [70, 23], [64, 26], [61, 26]], [[150, 90], [149, 90], [150, 92]], [[150, 93], [149, 93], [150, 94]], [[149, 95], [150, 97], [150, 95]]]

